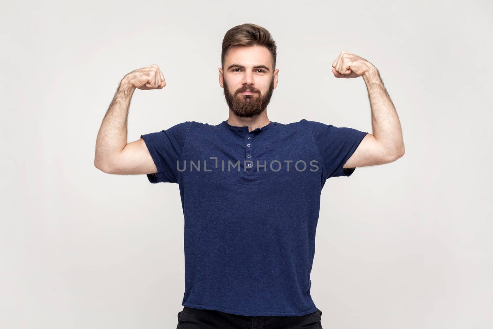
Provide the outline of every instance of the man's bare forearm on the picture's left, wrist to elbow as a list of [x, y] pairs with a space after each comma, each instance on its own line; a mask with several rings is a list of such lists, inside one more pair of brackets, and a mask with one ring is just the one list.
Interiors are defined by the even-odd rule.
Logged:
[[96, 139], [94, 165], [103, 170], [127, 145], [127, 118], [135, 88], [123, 78], [111, 101]]

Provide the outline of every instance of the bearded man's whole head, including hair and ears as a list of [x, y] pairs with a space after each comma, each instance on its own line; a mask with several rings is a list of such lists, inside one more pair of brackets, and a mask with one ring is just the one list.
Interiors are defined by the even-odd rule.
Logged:
[[219, 85], [224, 88], [226, 103], [237, 116], [252, 117], [267, 108], [278, 83], [276, 49], [271, 34], [258, 25], [242, 24], [226, 32]]

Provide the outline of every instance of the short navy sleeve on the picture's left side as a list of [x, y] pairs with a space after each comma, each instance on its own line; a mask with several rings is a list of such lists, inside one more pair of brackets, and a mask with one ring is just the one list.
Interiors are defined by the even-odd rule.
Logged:
[[171, 128], [141, 135], [157, 173], [147, 174], [150, 183], [178, 183], [176, 162], [181, 157], [190, 121], [178, 123]]

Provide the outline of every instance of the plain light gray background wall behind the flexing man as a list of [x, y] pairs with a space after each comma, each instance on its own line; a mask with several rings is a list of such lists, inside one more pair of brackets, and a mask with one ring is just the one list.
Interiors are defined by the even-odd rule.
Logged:
[[324, 328], [491, 328], [490, 1], [2, 1], [1, 328], [175, 328], [184, 292], [177, 184], [93, 165], [120, 79], [134, 93], [128, 142], [228, 117], [221, 41], [238, 24], [278, 45], [272, 121], [371, 132], [362, 78], [379, 69], [406, 154], [322, 190], [312, 297]]

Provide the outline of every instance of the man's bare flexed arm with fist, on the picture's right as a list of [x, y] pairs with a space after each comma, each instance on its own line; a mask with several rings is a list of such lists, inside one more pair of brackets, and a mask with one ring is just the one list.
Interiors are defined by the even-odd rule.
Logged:
[[403, 156], [404, 142], [399, 117], [375, 66], [362, 57], [342, 51], [332, 67], [335, 77], [363, 77], [371, 108], [373, 134], [363, 138], [344, 168], [389, 163]]

